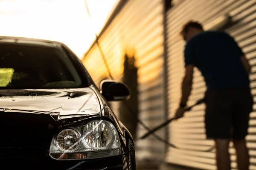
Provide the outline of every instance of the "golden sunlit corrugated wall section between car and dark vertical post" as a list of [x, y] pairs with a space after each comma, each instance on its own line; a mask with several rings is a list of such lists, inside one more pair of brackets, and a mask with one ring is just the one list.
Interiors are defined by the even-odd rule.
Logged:
[[[163, 75], [163, 1], [127, 0], [99, 37], [99, 43], [107, 58], [111, 73], [121, 80], [125, 51], [134, 49], [138, 67], [139, 118], [149, 127], [164, 119], [164, 75]], [[96, 85], [108, 72], [96, 44], [82, 60]], [[118, 104], [113, 110], [118, 115]], [[135, 121], [135, 119], [134, 119]], [[138, 136], [145, 133], [139, 125]], [[164, 137], [164, 131], [158, 134]], [[139, 160], [163, 160], [164, 144], [149, 137], [136, 143]]]

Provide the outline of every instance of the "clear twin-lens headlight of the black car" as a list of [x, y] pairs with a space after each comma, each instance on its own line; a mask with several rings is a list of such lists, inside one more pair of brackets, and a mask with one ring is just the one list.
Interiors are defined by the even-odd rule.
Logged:
[[120, 153], [116, 128], [105, 120], [94, 120], [62, 130], [53, 137], [49, 150], [49, 155], [58, 160], [102, 158]]

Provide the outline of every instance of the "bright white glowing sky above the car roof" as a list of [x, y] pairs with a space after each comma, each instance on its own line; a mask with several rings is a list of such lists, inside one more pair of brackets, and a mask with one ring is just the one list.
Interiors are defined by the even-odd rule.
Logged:
[[60, 41], [81, 59], [119, 0], [0, 0], [0, 36]]

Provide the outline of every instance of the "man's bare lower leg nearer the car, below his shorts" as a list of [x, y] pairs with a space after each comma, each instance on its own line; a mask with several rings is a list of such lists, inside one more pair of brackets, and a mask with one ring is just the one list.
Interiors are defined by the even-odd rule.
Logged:
[[230, 170], [230, 154], [228, 152], [230, 140], [215, 139], [214, 141], [216, 147], [216, 163], [218, 170]]

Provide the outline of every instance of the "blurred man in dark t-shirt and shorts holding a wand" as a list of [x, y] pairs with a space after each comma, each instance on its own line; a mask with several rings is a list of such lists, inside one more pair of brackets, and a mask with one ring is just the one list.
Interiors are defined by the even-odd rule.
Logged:
[[214, 139], [218, 170], [230, 170], [229, 143], [233, 141], [239, 170], [249, 169], [246, 146], [249, 113], [253, 108], [250, 92], [250, 64], [236, 41], [222, 31], [204, 31], [200, 23], [190, 21], [181, 35], [185, 76], [176, 119], [183, 116], [192, 89], [193, 68], [197, 67], [207, 85], [205, 128], [207, 139]]

